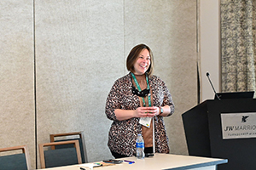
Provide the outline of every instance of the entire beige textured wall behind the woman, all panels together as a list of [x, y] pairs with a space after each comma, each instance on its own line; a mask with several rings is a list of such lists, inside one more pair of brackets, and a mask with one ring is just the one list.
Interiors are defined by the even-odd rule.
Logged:
[[35, 168], [37, 113], [37, 145], [49, 142], [49, 133], [84, 131], [89, 161], [111, 158], [105, 100], [127, 73], [131, 48], [144, 42], [176, 105], [166, 118], [171, 152], [187, 154], [181, 115], [197, 100], [196, 0], [34, 3], [35, 11], [32, 1], [0, 3], [0, 147], [27, 144]]

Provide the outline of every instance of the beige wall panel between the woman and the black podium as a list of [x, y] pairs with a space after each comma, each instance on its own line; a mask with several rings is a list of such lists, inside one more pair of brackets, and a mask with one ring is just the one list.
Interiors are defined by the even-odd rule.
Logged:
[[171, 152], [188, 154], [181, 115], [197, 104], [196, 1], [125, 1], [125, 54], [141, 42], [152, 48], [154, 74], [176, 106], [165, 118]]

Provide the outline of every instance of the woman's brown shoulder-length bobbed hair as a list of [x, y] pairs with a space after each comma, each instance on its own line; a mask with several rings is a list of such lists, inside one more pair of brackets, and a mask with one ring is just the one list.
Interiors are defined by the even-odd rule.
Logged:
[[145, 45], [145, 44], [138, 44], [134, 48], [131, 49], [130, 54], [127, 56], [126, 59], [126, 68], [128, 71], [134, 72], [134, 64], [137, 61], [137, 58], [139, 54], [143, 51], [143, 49], [148, 49], [149, 56], [150, 56], [150, 65], [148, 67], [148, 70], [146, 71], [148, 73], [148, 77], [150, 77], [153, 73], [154, 66], [153, 66], [153, 54], [151, 49]]

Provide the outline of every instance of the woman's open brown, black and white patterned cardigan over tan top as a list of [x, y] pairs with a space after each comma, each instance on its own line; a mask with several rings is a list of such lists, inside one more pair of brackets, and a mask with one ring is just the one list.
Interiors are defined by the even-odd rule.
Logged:
[[[154, 106], [169, 105], [171, 116], [174, 112], [172, 96], [160, 77], [148, 77], [150, 90], [152, 91], [152, 104]], [[136, 139], [138, 133], [142, 132], [142, 125], [139, 118], [134, 117], [125, 121], [117, 120], [114, 110], [136, 110], [140, 107], [140, 100], [136, 94], [132, 94], [132, 77], [131, 72], [124, 77], [119, 78], [113, 83], [106, 101], [105, 113], [108, 119], [113, 123], [108, 133], [108, 148], [125, 156], [136, 155]], [[154, 138], [155, 152], [169, 153], [168, 137], [163, 116], [154, 116]]]

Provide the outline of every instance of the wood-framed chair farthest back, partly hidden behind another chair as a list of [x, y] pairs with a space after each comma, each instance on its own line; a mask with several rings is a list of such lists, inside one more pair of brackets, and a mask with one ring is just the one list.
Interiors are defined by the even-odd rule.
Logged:
[[[69, 137], [72, 139], [61, 139], [61, 137]], [[68, 141], [68, 140], [74, 140], [78, 139], [79, 140], [79, 146], [80, 146], [80, 151], [81, 151], [81, 157], [82, 157], [82, 162], [87, 163], [87, 154], [86, 154], [86, 147], [85, 147], [85, 141], [84, 141], [84, 135], [83, 132], [72, 132], [72, 133], [56, 133], [56, 134], [49, 134], [49, 140], [50, 142], [60, 142], [60, 141]], [[58, 145], [58, 146], [52, 146], [51, 149], [61, 149], [61, 148], [68, 148], [72, 147], [70, 144], [66, 145]]]

